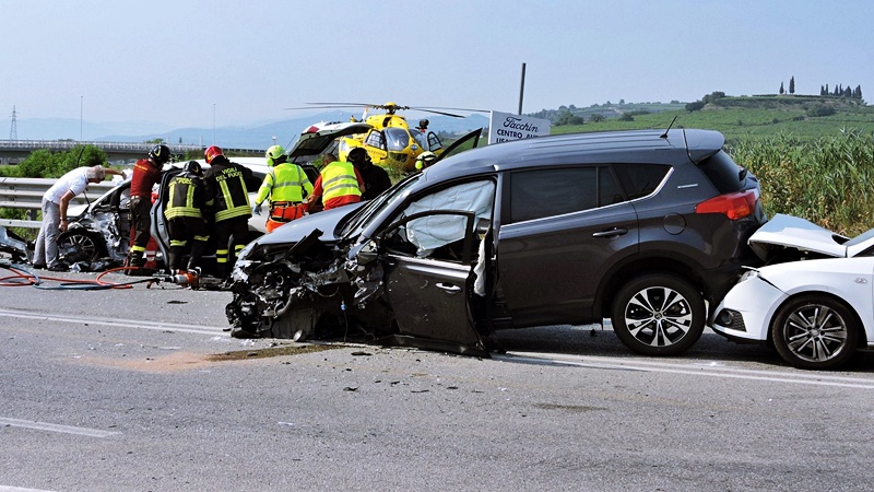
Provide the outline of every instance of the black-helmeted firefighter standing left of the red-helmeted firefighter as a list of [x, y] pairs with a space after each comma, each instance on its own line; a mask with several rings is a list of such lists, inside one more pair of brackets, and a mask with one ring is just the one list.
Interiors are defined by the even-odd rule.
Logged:
[[181, 272], [182, 257], [189, 242], [192, 243], [187, 270], [197, 271], [206, 242], [210, 241], [203, 210], [212, 206], [203, 181], [203, 169], [197, 161], [186, 163], [182, 174], [170, 179], [167, 197], [164, 216], [167, 218], [167, 233], [170, 238], [170, 272]]

